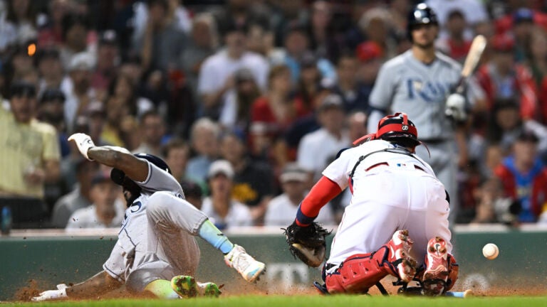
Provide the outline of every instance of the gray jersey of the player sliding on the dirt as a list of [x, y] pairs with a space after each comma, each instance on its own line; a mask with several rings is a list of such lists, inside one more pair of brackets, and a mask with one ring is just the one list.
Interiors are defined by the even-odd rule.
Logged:
[[125, 210], [122, 227], [110, 257], [103, 264], [103, 269], [118, 281], [125, 282], [127, 276], [139, 266], [156, 261], [155, 254], [147, 254], [147, 200], [157, 191], [167, 191], [183, 198], [184, 193], [177, 180], [166, 171], [148, 162], [148, 178], [142, 183], [139, 198]]

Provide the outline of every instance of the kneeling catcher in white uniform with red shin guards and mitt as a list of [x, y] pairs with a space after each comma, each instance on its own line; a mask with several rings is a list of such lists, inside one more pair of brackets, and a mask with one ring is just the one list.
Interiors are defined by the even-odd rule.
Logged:
[[415, 155], [415, 125], [405, 113], [389, 115], [354, 144], [360, 145], [340, 151], [302, 201], [286, 229], [291, 252], [311, 266], [323, 262], [327, 232], [313, 220], [349, 186], [321, 291], [366, 293], [390, 274], [403, 284], [419, 281], [426, 295], [445, 293], [458, 278], [449, 202], [431, 166]]

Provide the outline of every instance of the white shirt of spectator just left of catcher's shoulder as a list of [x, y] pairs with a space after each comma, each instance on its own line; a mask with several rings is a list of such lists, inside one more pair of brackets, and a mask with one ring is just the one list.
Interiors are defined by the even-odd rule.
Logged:
[[337, 139], [324, 128], [313, 131], [306, 134], [298, 144], [298, 165], [306, 171], [313, 171], [313, 178], [317, 180], [321, 177], [321, 171], [334, 160], [338, 151], [350, 144], [350, 138], [345, 131], [341, 139]]

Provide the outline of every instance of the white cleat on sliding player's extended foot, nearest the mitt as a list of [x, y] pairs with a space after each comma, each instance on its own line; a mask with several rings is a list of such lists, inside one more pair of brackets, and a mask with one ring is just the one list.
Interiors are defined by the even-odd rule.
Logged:
[[236, 269], [246, 281], [253, 282], [264, 273], [266, 265], [256, 261], [251, 255], [247, 254], [245, 249], [237, 244], [224, 256], [226, 265]]

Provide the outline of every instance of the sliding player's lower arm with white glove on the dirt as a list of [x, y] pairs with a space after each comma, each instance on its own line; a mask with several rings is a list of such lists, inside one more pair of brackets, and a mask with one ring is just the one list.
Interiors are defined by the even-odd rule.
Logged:
[[113, 291], [120, 288], [122, 283], [106, 271], [100, 271], [90, 279], [75, 284], [74, 286], [66, 286], [66, 284], [58, 284], [57, 290], [48, 290], [41, 292], [38, 296], [32, 298], [32, 301], [52, 301], [61, 298], [90, 298], [98, 296], [108, 291]]

